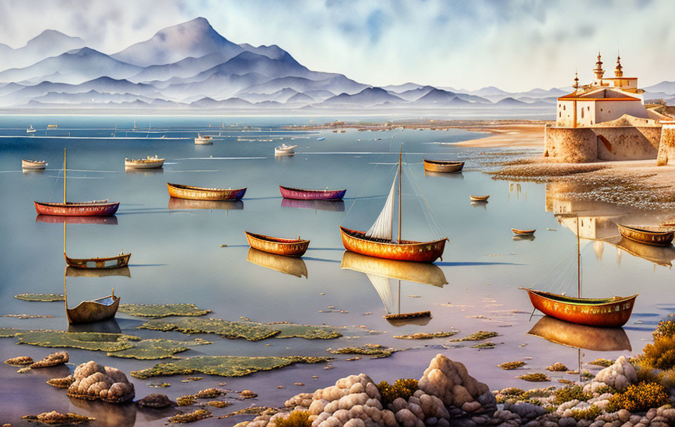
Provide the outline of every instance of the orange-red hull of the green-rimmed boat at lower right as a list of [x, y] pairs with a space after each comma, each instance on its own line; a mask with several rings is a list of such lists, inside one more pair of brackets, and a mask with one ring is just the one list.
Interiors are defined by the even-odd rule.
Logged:
[[598, 327], [622, 327], [626, 324], [638, 296], [574, 298], [534, 289], [520, 289], [527, 291], [532, 306], [545, 315], [565, 322]]

